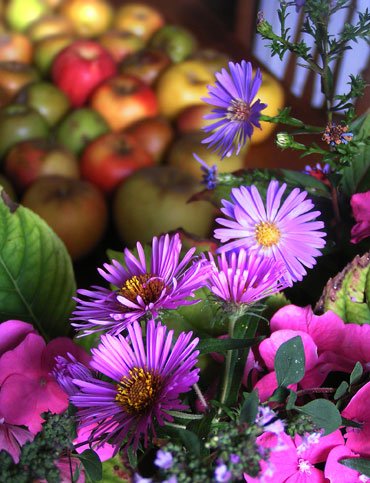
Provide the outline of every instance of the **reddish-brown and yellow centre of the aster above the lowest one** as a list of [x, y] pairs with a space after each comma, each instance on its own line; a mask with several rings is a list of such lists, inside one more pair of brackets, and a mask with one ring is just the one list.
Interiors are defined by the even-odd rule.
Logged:
[[121, 293], [131, 302], [136, 302], [137, 297], [140, 295], [143, 302], [148, 305], [159, 299], [164, 287], [165, 283], [163, 280], [153, 277], [150, 273], [145, 273], [144, 275], [134, 275], [127, 280], [121, 288]]

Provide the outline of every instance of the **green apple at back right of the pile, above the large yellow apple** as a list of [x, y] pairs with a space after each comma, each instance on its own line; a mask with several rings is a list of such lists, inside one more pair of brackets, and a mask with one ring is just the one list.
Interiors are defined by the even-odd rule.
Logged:
[[165, 25], [155, 32], [150, 47], [164, 50], [172, 62], [182, 62], [197, 48], [194, 35], [180, 25]]

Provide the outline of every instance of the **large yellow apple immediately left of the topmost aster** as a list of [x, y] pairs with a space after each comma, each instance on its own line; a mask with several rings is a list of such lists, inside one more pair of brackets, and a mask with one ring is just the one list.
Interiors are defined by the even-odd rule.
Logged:
[[207, 86], [214, 83], [214, 76], [197, 60], [185, 60], [168, 67], [158, 78], [156, 94], [160, 114], [174, 119], [183, 109], [203, 104]]

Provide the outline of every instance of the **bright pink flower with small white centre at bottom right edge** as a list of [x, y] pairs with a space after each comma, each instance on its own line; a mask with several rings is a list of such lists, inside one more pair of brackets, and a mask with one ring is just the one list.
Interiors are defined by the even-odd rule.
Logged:
[[[268, 433], [267, 433], [268, 434]], [[291, 438], [285, 433], [280, 435], [283, 447], [278, 451], [271, 451], [269, 460], [261, 461], [262, 471], [257, 478], [244, 474], [248, 483], [263, 481], [265, 483], [324, 483], [325, 476], [316, 464], [326, 461], [330, 451], [338, 445], [343, 445], [344, 439], [339, 430], [328, 436], [322, 436], [308, 449], [301, 450], [302, 438]], [[260, 436], [257, 442], [265, 445], [265, 435]]]

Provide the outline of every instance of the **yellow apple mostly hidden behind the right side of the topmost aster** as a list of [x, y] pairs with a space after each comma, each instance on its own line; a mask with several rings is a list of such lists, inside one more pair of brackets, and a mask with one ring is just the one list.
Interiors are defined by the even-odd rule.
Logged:
[[[262, 85], [258, 90], [256, 99], [267, 104], [262, 114], [266, 116], [276, 116], [278, 109], [284, 107], [284, 89], [280, 82], [270, 74], [262, 72]], [[265, 141], [276, 128], [276, 124], [271, 122], [261, 122], [261, 129], [254, 128], [251, 144], [258, 144]]]

